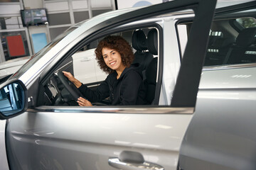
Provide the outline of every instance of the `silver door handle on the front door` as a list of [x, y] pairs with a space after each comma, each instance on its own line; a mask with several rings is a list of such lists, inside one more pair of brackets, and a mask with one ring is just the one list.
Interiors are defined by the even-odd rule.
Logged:
[[151, 162], [145, 162], [142, 154], [138, 152], [123, 151], [117, 157], [110, 157], [108, 160], [110, 166], [122, 170], [164, 170], [163, 166]]

